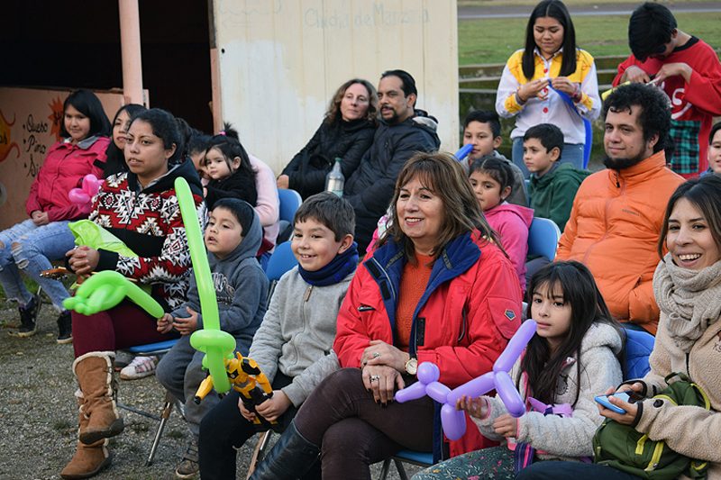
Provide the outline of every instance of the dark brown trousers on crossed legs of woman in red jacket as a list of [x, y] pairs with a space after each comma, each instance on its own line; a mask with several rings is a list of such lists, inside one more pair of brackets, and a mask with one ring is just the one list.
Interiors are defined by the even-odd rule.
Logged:
[[402, 448], [433, 449], [434, 403], [426, 396], [381, 406], [365, 389], [360, 368], [343, 368], [308, 396], [295, 423], [321, 447], [324, 478], [370, 479], [371, 464]]

